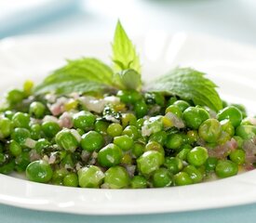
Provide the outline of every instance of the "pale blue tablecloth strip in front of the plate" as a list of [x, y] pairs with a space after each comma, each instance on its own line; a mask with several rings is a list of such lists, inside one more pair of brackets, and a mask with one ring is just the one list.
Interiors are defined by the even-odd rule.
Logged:
[[5, 223], [36, 222], [36, 223], [121, 223], [121, 222], [171, 222], [171, 223], [230, 223], [230, 222], [255, 222], [256, 204], [240, 205], [222, 209], [210, 209], [204, 211], [181, 212], [158, 215], [138, 215], [138, 216], [80, 216], [62, 213], [51, 213], [32, 211], [17, 207], [0, 204], [0, 220]]

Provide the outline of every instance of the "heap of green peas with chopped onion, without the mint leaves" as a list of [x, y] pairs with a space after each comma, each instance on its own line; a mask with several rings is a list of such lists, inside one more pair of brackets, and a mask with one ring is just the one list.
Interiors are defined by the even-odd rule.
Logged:
[[[223, 103], [213, 112], [175, 96], [119, 90], [115, 103], [94, 112], [80, 100], [87, 95], [50, 101], [32, 89], [27, 82], [7, 92], [0, 113], [2, 174], [68, 187], [144, 189], [232, 177], [253, 166], [244, 145], [255, 139], [256, 126], [241, 105]], [[61, 97], [61, 112], [53, 115]], [[97, 102], [109, 95], [89, 97]], [[71, 125], [61, 125], [63, 113]]]

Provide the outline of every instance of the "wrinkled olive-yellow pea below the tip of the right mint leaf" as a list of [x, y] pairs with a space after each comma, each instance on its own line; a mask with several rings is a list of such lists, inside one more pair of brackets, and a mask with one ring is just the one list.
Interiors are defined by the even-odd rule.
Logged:
[[199, 126], [198, 134], [206, 142], [216, 142], [222, 134], [222, 126], [218, 120], [208, 119]]

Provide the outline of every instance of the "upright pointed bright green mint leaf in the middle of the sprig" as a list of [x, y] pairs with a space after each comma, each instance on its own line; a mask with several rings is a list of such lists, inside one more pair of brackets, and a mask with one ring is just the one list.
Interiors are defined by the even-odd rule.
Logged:
[[115, 28], [112, 50], [116, 72], [133, 69], [139, 74], [141, 73], [140, 58], [119, 20]]

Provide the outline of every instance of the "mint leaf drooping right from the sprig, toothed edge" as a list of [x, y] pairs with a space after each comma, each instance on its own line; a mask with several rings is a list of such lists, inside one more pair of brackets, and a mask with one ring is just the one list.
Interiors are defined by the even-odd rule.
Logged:
[[196, 105], [208, 106], [218, 112], [222, 109], [222, 99], [215, 90], [216, 87], [203, 72], [177, 68], [147, 85], [146, 90], [191, 99]]

